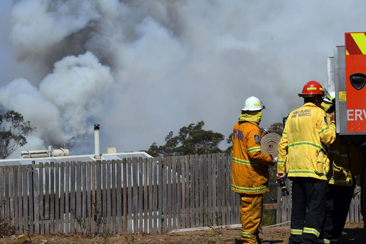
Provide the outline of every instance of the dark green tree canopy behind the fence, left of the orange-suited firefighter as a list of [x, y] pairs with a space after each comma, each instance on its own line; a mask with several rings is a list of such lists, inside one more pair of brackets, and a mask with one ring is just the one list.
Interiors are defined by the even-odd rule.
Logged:
[[165, 145], [158, 146], [154, 142], [146, 152], [153, 157], [223, 152], [219, 144], [225, 136], [212, 130], [206, 131], [203, 129], [204, 125], [205, 123], [200, 121], [197, 124], [184, 126], [179, 129], [176, 136], [171, 131], [165, 137]]

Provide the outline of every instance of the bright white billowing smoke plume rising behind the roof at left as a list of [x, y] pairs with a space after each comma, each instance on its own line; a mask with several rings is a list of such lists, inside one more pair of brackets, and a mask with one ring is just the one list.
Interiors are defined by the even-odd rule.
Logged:
[[87, 132], [87, 121], [101, 112], [103, 94], [112, 82], [109, 67], [86, 52], [56, 62], [39, 88], [22, 78], [1, 87], [0, 104], [37, 126], [38, 139], [32, 135], [25, 147], [39, 147], [41, 142], [63, 145]]

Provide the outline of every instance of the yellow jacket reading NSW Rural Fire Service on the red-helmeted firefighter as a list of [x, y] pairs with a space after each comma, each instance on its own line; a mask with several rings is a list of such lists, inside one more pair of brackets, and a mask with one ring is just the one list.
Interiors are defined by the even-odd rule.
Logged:
[[326, 145], [336, 138], [336, 125], [313, 103], [290, 113], [278, 145], [277, 173], [327, 180]]

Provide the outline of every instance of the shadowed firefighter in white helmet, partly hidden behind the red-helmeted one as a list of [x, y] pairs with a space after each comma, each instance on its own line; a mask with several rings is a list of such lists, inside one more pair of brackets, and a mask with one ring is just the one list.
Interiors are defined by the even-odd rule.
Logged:
[[[335, 94], [324, 98], [321, 108], [329, 115], [335, 110]], [[329, 191], [326, 192], [325, 217], [318, 243], [338, 243], [346, 223], [354, 189], [356, 175], [361, 173], [361, 154], [347, 135], [336, 135], [328, 147]]]

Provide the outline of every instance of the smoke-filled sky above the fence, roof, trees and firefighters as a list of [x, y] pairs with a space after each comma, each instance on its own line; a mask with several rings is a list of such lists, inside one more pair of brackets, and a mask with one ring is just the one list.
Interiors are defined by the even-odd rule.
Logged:
[[[21, 0], [0, 3], [0, 107], [37, 127], [20, 150], [148, 149], [203, 120], [232, 132], [244, 101], [261, 127], [302, 105], [365, 1]], [[352, 11], [350, 11], [352, 10]], [[226, 149], [224, 140], [220, 147]]]

